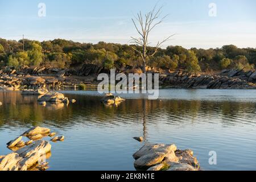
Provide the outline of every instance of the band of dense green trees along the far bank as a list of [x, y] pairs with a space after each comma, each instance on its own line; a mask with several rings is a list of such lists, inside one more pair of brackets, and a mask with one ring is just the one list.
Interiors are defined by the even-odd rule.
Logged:
[[[138, 45], [99, 42], [79, 43], [55, 39], [39, 42], [24, 39], [0, 39], [0, 67], [51, 66], [76, 68], [82, 64], [97, 64], [105, 69], [142, 68], [143, 62]], [[155, 47], [148, 47], [154, 52]], [[238, 48], [234, 45], [210, 49], [185, 49], [181, 46], [158, 48], [148, 57], [147, 66], [154, 69], [184, 69], [188, 72], [210, 72], [221, 69], [254, 69], [256, 48]]]

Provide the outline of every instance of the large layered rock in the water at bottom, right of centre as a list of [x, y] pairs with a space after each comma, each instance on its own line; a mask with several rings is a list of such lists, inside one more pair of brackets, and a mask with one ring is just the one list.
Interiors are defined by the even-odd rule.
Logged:
[[191, 150], [177, 150], [174, 144], [145, 144], [133, 155], [134, 167], [148, 171], [199, 171]]

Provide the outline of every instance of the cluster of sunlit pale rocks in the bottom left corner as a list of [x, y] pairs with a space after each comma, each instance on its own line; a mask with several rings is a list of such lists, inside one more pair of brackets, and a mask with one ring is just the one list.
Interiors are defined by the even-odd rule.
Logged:
[[[33, 140], [22, 141], [22, 136], [7, 143], [10, 150], [15, 152], [0, 156], [0, 171], [45, 171], [49, 168], [44, 159], [51, 157], [51, 144], [45, 140], [36, 140], [48, 135], [49, 129], [33, 127], [23, 135]], [[56, 137], [55, 140], [64, 140], [64, 136]]]

